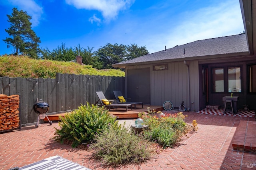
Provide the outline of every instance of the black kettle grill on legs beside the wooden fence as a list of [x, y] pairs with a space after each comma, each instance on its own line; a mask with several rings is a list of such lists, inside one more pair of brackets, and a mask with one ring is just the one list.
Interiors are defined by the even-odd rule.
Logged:
[[33, 109], [38, 114], [36, 128], [38, 127], [39, 120], [44, 119], [45, 117], [48, 119], [50, 125], [52, 125], [52, 121], [50, 121], [48, 116], [46, 115], [47, 111], [49, 110], [49, 104], [48, 103], [43, 102], [43, 100], [40, 99], [39, 102], [37, 102], [33, 105]]

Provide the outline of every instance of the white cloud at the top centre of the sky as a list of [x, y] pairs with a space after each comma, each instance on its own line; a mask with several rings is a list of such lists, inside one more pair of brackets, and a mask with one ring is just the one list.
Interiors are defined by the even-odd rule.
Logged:
[[120, 10], [130, 8], [134, 0], [66, 0], [66, 3], [78, 9], [98, 10], [108, 21], [116, 18]]

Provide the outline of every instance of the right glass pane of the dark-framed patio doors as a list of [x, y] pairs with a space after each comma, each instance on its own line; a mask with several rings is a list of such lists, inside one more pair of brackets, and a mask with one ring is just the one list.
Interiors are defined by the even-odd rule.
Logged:
[[228, 68], [228, 92], [241, 92], [240, 67]]

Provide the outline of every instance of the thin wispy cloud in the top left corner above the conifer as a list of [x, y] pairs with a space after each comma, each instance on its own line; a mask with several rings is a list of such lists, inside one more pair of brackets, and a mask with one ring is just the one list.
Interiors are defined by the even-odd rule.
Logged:
[[32, 26], [37, 26], [40, 23], [43, 14], [43, 8], [40, 7], [34, 0], [7, 0], [11, 5], [17, 6], [18, 10], [23, 10], [31, 16], [30, 22]]

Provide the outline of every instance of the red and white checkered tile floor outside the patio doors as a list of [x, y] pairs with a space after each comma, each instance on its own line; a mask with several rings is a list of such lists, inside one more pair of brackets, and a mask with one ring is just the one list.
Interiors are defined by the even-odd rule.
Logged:
[[227, 115], [227, 116], [240, 116], [240, 117], [255, 117], [255, 111], [240, 110], [233, 115], [232, 112], [226, 111], [224, 113], [223, 109], [203, 109], [196, 113], [206, 114], [206, 115]]

